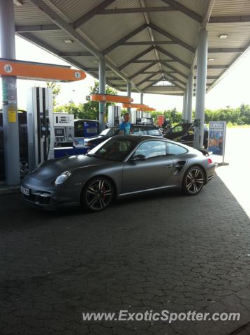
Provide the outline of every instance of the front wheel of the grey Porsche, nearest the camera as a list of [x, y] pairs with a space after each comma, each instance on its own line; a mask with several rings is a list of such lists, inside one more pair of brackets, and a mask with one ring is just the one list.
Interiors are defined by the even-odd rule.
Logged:
[[96, 177], [87, 182], [82, 192], [83, 207], [89, 211], [102, 211], [114, 198], [112, 182], [105, 177]]

